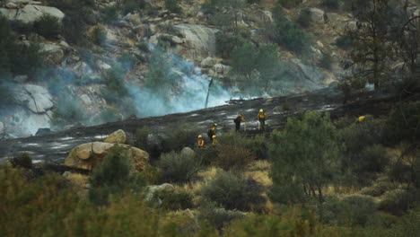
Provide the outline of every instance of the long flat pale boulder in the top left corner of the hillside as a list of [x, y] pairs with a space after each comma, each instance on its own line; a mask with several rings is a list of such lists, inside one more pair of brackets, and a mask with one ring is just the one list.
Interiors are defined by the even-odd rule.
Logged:
[[56, 7], [33, 4], [27, 4], [21, 9], [0, 8], [0, 13], [3, 13], [11, 21], [22, 23], [33, 23], [44, 14], [55, 16], [58, 21], [63, 20], [65, 17], [65, 14]]

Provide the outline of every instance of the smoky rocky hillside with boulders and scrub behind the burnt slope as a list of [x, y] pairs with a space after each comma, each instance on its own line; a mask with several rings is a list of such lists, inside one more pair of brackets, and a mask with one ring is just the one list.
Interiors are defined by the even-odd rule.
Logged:
[[[356, 22], [345, 6], [216, 2], [1, 1], [2, 137], [303, 92], [346, 73], [337, 42]], [[308, 42], [270, 36], [280, 13], [302, 34], [292, 41]]]

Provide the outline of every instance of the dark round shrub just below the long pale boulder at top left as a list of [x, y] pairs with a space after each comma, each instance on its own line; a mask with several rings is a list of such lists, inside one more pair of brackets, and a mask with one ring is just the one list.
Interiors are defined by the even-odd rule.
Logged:
[[54, 39], [61, 32], [61, 24], [57, 17], [44, 14], [33, 22], [33, 30], [47, 39]]

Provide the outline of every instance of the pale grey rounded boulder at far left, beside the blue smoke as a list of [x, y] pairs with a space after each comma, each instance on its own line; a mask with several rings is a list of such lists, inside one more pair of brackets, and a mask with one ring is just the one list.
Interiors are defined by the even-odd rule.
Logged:
[[16, 87], [14, 99], [34, 113], [45, 113], [54, 107], [47, 88], [31, 83]]

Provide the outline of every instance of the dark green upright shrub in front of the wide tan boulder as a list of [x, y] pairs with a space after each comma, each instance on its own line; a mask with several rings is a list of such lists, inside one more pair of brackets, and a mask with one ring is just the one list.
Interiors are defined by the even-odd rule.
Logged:
[[109, 204], [109, 195], [122, 196], [129, 188], [137, 187], [127, 151], [118, 145], [110, 148], [89, 178], [89, 199], [97, 206]]

